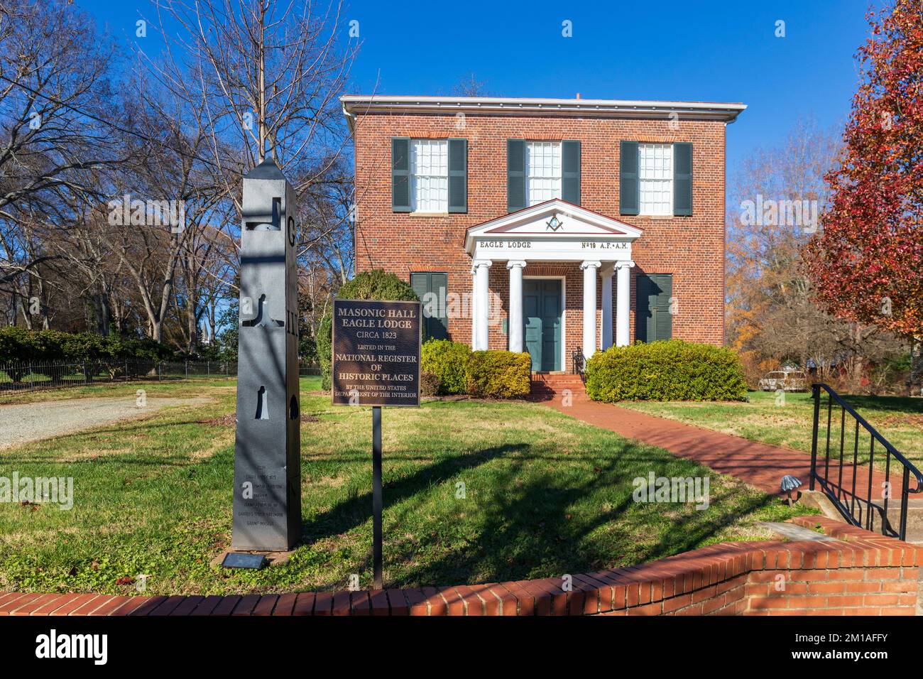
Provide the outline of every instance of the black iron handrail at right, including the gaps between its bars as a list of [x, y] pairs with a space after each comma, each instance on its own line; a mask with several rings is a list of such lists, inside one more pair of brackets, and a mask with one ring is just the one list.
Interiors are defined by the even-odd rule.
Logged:
[[923, 491], [923, 474], [828, 385], [811, 391], [810, 490], [819, 484], [851, 524], [905, 540], [908, 496]]

